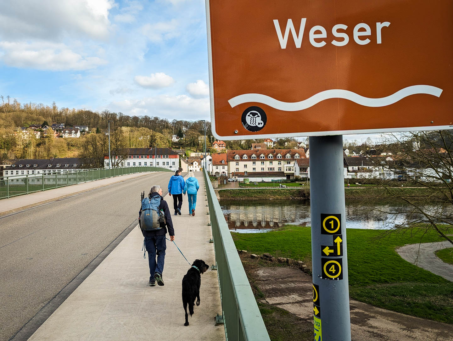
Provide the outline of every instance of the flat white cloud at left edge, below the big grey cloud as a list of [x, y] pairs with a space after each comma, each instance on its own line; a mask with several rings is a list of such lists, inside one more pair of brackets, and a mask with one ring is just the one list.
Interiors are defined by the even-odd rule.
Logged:
[[0, 42], [0, 60], [11, 67], [38, 70], [88, 70], [107, 63], [98, 57], [84, 57], [64, 44]]

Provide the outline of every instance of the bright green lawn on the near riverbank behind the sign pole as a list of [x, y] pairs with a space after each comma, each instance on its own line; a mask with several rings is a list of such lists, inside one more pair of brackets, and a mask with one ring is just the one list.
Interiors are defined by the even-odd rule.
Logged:
[[[236, 247], [293, 259], [311, 259], [310, 228], [286, 226], [281, 231], [236, 234]], [[351, 298], [377, 307], [453, 323], [453, 283], [402, 259], [399, 246], [439, 241], [434, 232], [406, 231], [382, 239], [382, 231], [347, 229]]]

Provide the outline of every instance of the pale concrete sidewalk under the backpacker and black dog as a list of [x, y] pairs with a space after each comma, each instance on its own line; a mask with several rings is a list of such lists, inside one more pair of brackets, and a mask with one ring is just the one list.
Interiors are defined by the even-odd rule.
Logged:
[[[197, 178], [195, 216], [188, 215], [187, 196], [183, 196], [183, 215], [172, 216], [175, 242], [189, 262], [203, 259], [214, 264], [202, 174], [198, 172]], [[173, 198], [167, 195], [165, 200], [173, 212]], [[165, 285], [149, 287], [142, 244], [136, 226], [29, 340], [225, 340], [224, 327], [214, 326], [214, 317], [222, 312], [217, 272], [202, 274], [201, 304], [184, 327], [181, 281], [190, 265], [167, 240]]]

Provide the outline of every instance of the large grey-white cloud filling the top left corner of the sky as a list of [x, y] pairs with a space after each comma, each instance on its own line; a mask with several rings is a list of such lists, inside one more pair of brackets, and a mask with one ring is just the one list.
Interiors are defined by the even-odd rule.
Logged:
[[67, 34], [84, 34], [104, 39], [113, 0], [3, 0], [0, 38], [55, 40]]

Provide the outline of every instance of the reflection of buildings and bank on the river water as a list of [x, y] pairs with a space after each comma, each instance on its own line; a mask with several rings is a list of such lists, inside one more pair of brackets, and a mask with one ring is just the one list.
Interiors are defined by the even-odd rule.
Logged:
[[[305, 200], [221, 200], [220, 206], [229, 229], [236, 232], [267, 232], [285, 224], [310, 226], [310, 202]], [[398, 203], [367, 207], [357, 200], [346, 200], [346, 227], [389, 228], [407, 217], [405, 213], [392, 214], [401, 207]], [[372, 208], [381, 212], [371, 211]]]

